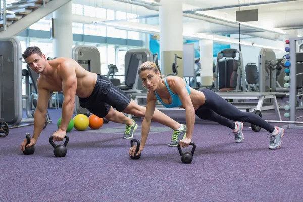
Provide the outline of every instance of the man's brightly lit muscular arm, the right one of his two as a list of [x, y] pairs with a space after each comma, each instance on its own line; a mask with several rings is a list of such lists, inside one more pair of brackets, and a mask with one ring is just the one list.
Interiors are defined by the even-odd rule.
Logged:
[[58, 71], [62, 79], [62, 92], [64, 100], [62, 103], [62, 118], [59, 130], [66, 131], [68, 124], [73, 116], [75, 107], [75, 95], [77, 90], [77, 76], [75, 71], [75, 62], [65, 62], [61, 64]]

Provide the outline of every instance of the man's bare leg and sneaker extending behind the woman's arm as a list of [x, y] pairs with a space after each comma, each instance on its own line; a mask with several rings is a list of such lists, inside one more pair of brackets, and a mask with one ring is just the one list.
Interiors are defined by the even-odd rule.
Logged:
[[[145, 110], [146, 107], [140, 106], [136, 104], [133, 100], [130, 100], [130, 103], [123, 110], [123, 112], [127, 114], [132, 114], [137, 117], [144, 117]], [[172, 135], [172, 141], [168, 144], [168, 146], [177, 146], [179, 141], [185, 138], [186, 126], [184, 124], [176, 122], [175, 120], [173, 120], [166, 114], [160, 112], [159, 110], [155, 110], [153, 120], [174, 130], [174, 133]]]

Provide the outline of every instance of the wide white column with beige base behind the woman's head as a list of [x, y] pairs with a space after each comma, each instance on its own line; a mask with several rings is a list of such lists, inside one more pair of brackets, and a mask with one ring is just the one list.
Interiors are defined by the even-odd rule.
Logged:
[[[183, 58], [183, 10], [182, 0], [161, 0], [160, 22], [160, 60], [161, 73], [173, 73], [175, 54]], [[177, 59], [178, 75], [183, 78], [183, 60]]]

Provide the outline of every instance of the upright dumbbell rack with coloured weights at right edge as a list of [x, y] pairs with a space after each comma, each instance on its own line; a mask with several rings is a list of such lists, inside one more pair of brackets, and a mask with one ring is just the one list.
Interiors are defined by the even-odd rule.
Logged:
[[[285, 48], [285, 51], [289, 52], [289, 57], [287, 62], [285, 63], [285, 66], [289, 68], [289, 121], [286, 121], [289, 123], [289, 125], [283, 126], [283, 128], [290, 128], [290, 129], [299, 129], [303, 128], [303, 125], [297, 125], [302, 124], [302, 122], [296, 121], [298, 118], [302, 118], [303, 116], [296, 117], [296, 106], [297, 106], [297, 97], [302, 95], [297, 95], [297, 64], [302, 61], [298, 61], [297, 57], [298, 54], [303, 55], [303, 53], [297, 53], [297, 41], [303, 42], [303, 37], [296, 37], [296, 38], [290, 38], [289, 40], [286, 40], [286, 44], [289, 44], [289, 47]], [[285, 123], [286, 123], [285, 122]]]

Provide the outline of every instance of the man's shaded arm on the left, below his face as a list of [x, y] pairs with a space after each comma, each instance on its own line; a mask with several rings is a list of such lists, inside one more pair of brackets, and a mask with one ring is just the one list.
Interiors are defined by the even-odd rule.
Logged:
[[41, 87], [40, 81], [37, 81], [38, 87], [38, 100], [37, 100], [37, 108], [34, 114], [34, 134], [33, 137], [35, 140], [38, 140], [46, 119], [47, 108], [48, 108], [48, 101], [51, 98], [51, 93], [49, 90], [44, 89]]

